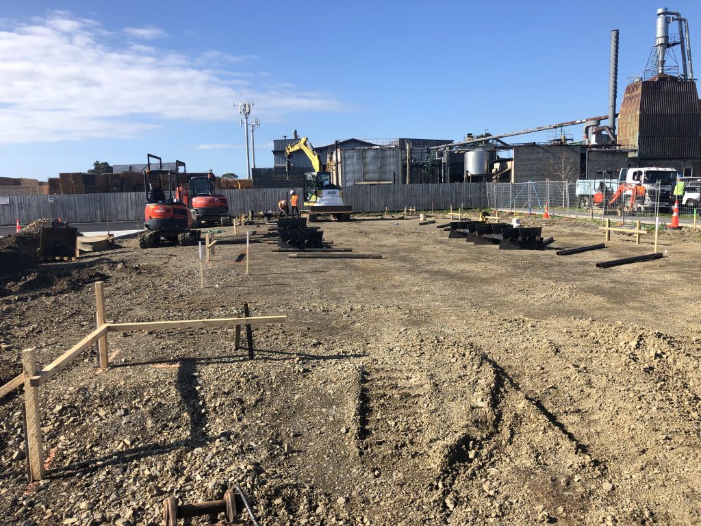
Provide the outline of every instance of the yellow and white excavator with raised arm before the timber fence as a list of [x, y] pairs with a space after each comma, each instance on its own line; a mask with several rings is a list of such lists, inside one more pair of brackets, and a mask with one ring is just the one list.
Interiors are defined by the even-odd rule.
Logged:
[[302, 151], [311, 161], [314, 170], [304, 174], [304, 211], [308, 214], [309, 221], [316, 221], [322, 215], [330, 215], [336, 221], [350, 220], [353, 207], [343, 204], [341, 187], [333, 184], [331, 174], [323, 170], [319, 154], [307, 137], [302, 137], [285, 148], [287, 173], [290, 173], [290, 157], [295, 151]]

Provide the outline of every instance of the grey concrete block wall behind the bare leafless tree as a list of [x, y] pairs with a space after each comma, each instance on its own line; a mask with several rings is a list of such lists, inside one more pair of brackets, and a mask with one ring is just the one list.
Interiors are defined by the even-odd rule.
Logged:
[[[554, 173], [552, 163], [560, 156], [580, 166], [581, 148], [578, 146], [536, 145], [517, 146], [514, 148], [514, 163], [511, 182], [562, 180]], [[577, 169], [579, 175], [579, 169]]]

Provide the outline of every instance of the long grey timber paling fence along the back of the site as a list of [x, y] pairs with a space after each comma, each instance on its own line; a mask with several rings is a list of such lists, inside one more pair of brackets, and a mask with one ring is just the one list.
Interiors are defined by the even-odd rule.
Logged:
[[[301, 195], [302, 189], [297, 188]], [[289, 189], [222, 189], [229, 199], [229, 213], [238, 215], [260, 210], [276, 210]], [[353, 212], [384, 212], [454, 208], [484, 208], [487, 205], [484, 183], [451, 184], [378, 184], [343, 189], [343, 200]], [[41, 217], [53, 217], [70, 223], [139, 221], [144, 219], [144, 194], [74, 194], [55, 196], [6, 196], [0, 201], [0, 224], [27, 224]]]

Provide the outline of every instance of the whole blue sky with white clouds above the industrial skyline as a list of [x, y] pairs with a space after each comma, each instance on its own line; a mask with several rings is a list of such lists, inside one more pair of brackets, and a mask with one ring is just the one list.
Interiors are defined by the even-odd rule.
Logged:
[[[608, 112], [654, 40], [651, 1], [11, 1], [0, 14], [0, 175], [46, 180], [146, 154], [245, 175], [297, 129], [461, 140]], [[701, 73], [701, 2], [677, 1]], [[568, 128], [576, 139], [580, 126]], [[512, 140], [545, 140], [545, 136]]]

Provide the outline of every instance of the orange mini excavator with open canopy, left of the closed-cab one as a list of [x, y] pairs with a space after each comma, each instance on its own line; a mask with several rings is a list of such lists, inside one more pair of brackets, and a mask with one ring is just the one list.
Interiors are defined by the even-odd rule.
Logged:
[[[151, 167], [151, 159], [158, 159], [158, 168]], [[141, 248], [154, 247], [161, 241], [193, 245], [200, 238], [200, 232], [191, 229], [190, 209], [179, 198], [173, 196], [174, 188], [179, 185], [180, 166], [185, 166], [185, 163], [175, 161], [175, 171], [164, 169], [160, 157], [147, 154], [147, 165], [144, 169], [145, 231], [139, 237]]]

